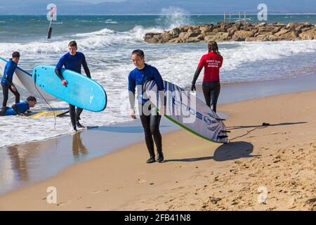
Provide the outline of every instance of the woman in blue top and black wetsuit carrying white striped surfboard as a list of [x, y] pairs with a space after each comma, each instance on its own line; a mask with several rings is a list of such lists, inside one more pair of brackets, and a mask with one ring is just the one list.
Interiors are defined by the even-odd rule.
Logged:
[[[146, 146], [150, 154], [150, 158], [146, 162], [156, 162], [154, 143], [157, 147], [157, 162], [162, 162], [164, 160], [164, 154], [162, 153], [162, 134], [160, 134], [159, 131], [162, 115], [157, 113], [157, 108], [151, 107], [151, 105], [148, 107], [148, 105], [145, 104], [147, 103], [147, 99], [143, 98], [143, 85], [147, 81], [154, 80], [157, 84], [158, 91], [162, 91], [159, 92], [159, 98], [161, 98], [160, 94], [164, 91], [164, 81], [156, 68], [145, 63], [145, 55], [143, 51], [139, 49], [133, 51], [131, 59], [136, 66], [136, 68], [129, 73], [129, 102], [131, 105], [131, 117], [136, 119], [134, 106], [135, 90], [137, 88], [138, 90], [141, 90], [138, 91], [138, 109], [140, 113], [140, 121], [142, 122], [145, 133]], [[164, 113], [164, 109], [162, 108], [160, 112]]]

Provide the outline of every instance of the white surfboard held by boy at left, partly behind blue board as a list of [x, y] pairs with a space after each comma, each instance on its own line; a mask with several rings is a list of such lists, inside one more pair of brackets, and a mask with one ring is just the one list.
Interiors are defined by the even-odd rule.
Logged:
[[[7, 60], [0, 57], [0, 77], [4, 75], [4, 68], [6, 67]], [[25, 70], [16, 68], [13, 75], [13, 84], [27, 91], [29, 94], [36, 96], [37, 98], [45, 98], [46, 101], [56, 101], [58, 98], [48, 94], [46, 91], [41, 89], [38, 85], [34, 84], [34, 79]], [[36, 85], [36, 87], [35, 87]]]

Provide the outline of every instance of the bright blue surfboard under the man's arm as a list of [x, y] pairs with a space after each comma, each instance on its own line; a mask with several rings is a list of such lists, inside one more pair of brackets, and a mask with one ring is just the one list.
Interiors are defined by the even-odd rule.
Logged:
[[62, 85], [51, 65], [38, 65], [33, 69], [32, 77], [41, 89], [62, 101], [93, 112], [105, 110], [107, 95], [103, 86], [72, 70], [62, 68], [61, 73], [67, 86]]

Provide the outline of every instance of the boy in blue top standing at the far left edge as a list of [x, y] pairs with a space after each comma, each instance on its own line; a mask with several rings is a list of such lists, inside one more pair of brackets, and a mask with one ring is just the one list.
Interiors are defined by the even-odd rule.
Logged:
[[1, 79], [2, 92], [4, 94], [4, 101], [2, 102], [2, 107], [6, 107], [8, 103], [8, 90], [10, 90], [15, 95], [15, 103], [20, 102], [20, 93], [13, 84], [13, 75], [15, 68], [17, 68], [20, 60], [20, 53], [15, 51], [12, 53], [12, 58], [6, 63], [6, 68], [4, 68], [4, 74]]

